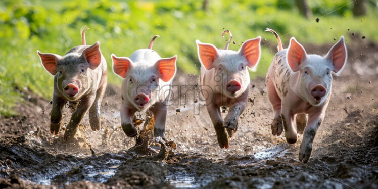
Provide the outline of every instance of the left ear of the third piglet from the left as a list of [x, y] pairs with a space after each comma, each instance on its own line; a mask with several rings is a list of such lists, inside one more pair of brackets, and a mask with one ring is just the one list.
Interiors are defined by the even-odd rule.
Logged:
[[199, 40], [196, 40], [197, 43], [197, 52], [200, 62], [207, 70], [213, 68], [213, 63], [215, 58], [218, 56], [218, 50], [214, 45], [208, 43], [202, 43]]

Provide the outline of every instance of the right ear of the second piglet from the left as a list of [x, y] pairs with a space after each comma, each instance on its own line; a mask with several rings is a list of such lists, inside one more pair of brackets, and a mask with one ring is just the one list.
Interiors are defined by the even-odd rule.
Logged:
[[160, 79], [164, 82], [171, 80], [176, 73], [176, 60], [177, 55], [156, 61], [155, 67], [159, 70]]

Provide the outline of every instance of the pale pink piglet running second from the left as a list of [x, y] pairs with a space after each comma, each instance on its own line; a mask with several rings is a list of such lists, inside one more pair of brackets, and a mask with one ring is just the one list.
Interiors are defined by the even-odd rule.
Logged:
[[167, 103], [172, 80], [176, 74], [177, 56], [161, 58], [152, 50], [154, 36], [148, 49], [139, 49], [130, 58], [112, 54], [113, 72], [122, 80], [121, 126], [128, 137], [138, 130], [132, 123], [136, 111], [151, 110], [154, 115], [154, 136], [164, 137]]

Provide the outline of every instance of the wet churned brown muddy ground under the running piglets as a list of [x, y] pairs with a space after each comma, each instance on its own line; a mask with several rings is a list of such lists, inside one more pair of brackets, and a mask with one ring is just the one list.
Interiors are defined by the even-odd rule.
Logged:
[[[120, 128], [119, 87], [107, 88], [102, 129], [92, 131], [86, 115], [72, 143], [62, 142], [64, 128], [58, 136], [49, 132], [50, 101], [23, 89], [20, 116], [0, 119], [0, 188], [378, 188], [378, 45], [347, 44], [347, 67], [334, 76], [307, 164], [298, 161], [302, 135], [294, 145], [271, 135], [264, 79], [251, 81], [247, 108], [225, 150], [198, 98], [196, 76], [178, 73], [175, 85], [182, 87], [175, 88], [166, 124], [166, 139], [177, 148], [168, 157], [157, 154], [157, 145], [148, 156], [132, 148], [135, 138]], [[274, 52], [275, 44], [268, 45]], [[304, 46], [324, 54], [332, 44]], [[64, 125], [70, 115], [65, 108]]]

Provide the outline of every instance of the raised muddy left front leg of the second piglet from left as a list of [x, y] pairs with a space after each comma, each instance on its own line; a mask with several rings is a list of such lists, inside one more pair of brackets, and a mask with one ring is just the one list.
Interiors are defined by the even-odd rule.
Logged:
[[127, 106], [121, 108], [121, 126], [123, 132], [125, 132], [128, 137], [135, 137], [138, 134], [138, 129], [132, 123], [135, 112], [135, 110], [131, 110], [127, 108]]

